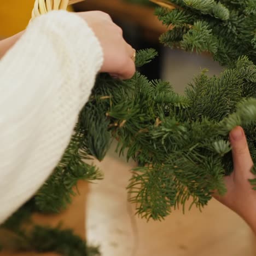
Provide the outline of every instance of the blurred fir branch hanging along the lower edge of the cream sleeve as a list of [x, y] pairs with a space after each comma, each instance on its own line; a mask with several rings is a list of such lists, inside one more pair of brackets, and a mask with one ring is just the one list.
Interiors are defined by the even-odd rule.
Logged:
[[81, 147], [83, 135], [75, 133], [54, 173], [35, 196], [38, 211], [58, 213], [72, 202], [75, 185], [79, 180], [102, 179], [102, 173], [94, 165], [84, 162], [88, 155]]

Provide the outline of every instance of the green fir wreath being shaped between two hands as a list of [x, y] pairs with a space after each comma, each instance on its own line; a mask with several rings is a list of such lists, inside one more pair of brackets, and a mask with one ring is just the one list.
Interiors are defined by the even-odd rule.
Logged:
[[[27, 234], [22, 225], [34, 211], [65, 210], [80, 179], [101, 179], [100, 170], [84, 160], [102, 160], [113, 139], [119, 154], [138, 162], [127, 189], [137, 214], [147, 219], [163, 219], [178, 206], [185, 210], [190, 198], [189, 208], [201, 209], [213, 190], [225, 194], [223, 177], [233, 167], [228, 135], [235, 126], [245, 129], [256, 161], [256, 0], [152, 2], [161, 5], [156, 15], [169, 28], [160, 37], [163, 44], [208, 52], [224, 71], [208, 77], [203, 69], [184, 96], [170, 83], [149, 81], [138, 72], [126, 81], [99, 75], [52, 176], [2, 225], [36, 251], [90, 255], [72, 231], [34, 226]], [[67, 1], [61, 6], [66, 8]], [[153, 49], [138, 51], [136, 66], [156, 55]], [[255, 189], [256, 179], [251, 184]]]

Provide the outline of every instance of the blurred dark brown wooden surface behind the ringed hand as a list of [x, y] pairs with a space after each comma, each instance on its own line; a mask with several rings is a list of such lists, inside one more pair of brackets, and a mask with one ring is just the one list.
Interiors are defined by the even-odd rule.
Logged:
[[160, 34], [166, 32], [166, 27], [154, 15], [155, 8], [132, 4], [123, 0], [86, 0], [74, 5], [77, 11], [101, 10], [118, 19], [141, 26], [146, 36], [158, 40]]

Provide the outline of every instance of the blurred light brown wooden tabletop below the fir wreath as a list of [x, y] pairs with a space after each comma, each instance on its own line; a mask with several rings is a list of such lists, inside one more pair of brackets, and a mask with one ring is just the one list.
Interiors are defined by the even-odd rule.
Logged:
[[[130, 168], [112, 152], [98, 163], [104, 179], [90, 184], [87, 207], [89, 243], [102, 256], [253, 256], [255, 238], [234, 212], [212, 200], [201, 212], [174, 211], [162, 222], [134, 217], [126, 202]], [[135, 223], [136, 222], [136, 223]]]

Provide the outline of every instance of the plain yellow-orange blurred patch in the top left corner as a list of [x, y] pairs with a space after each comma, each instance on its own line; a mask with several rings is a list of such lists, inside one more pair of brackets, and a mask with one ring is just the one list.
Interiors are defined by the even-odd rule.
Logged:
[[34, 0], [2, 0], [0, 4], [0, 38], [24, 30], [30, 21]]

